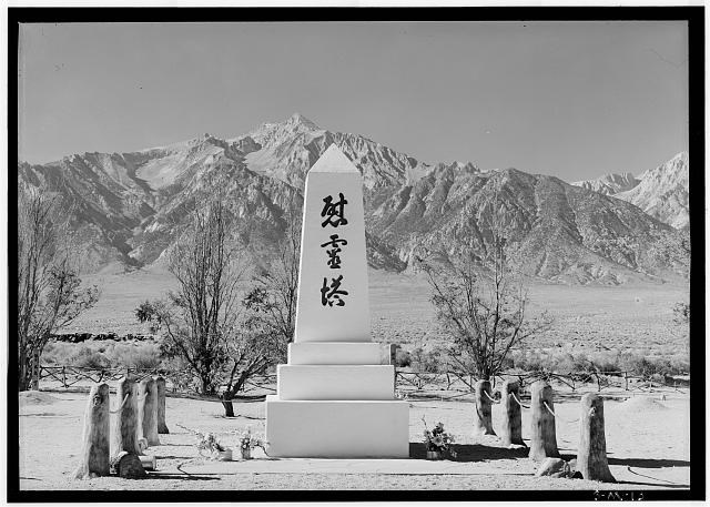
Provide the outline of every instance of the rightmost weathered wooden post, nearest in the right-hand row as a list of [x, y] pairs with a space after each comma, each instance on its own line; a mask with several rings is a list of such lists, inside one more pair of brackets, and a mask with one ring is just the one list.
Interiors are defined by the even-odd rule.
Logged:
[[604, 399], [594, 393], [581, 397], [579, 417], [579, 450], [577, 471], [585, 479], [615, 483], [607, 460], [607, 440], [604, 434]]

